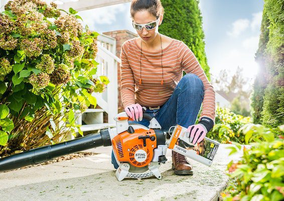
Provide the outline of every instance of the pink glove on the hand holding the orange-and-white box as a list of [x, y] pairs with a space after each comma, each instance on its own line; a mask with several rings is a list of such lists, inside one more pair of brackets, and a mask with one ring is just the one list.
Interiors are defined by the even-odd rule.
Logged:
[[207, 129], [203, 124], [191, 125], [187, 129], [187, 137], [189, 137], [189, 142], [192, 144], [201, 142], [207, 133]]

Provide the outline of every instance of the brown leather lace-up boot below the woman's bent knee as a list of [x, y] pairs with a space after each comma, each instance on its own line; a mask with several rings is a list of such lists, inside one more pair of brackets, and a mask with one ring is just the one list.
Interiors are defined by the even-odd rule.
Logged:
[[177, 175], [193, 175], [192, 165], [187, 161], [186, 157], [175, 151], [172, 151], [172, 169]]

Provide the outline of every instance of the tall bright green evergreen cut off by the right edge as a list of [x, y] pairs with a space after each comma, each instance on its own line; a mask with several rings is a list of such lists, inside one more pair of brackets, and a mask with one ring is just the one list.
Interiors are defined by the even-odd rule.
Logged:
[[264, 126], [284, 124], [284, 0], [265, 0], [264, 8], [270, 21], [265, 65], [269, 73], [264, 91], [262, 121]]

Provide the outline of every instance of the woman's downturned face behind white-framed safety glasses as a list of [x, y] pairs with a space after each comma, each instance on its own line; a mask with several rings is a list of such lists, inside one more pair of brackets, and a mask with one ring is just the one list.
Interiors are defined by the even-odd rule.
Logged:
[[[134, 17], [132, 18], [133, 22], [136, 24], [147, 24], [153, 21], [156, 21], [156, 16], [152, 15], [148, 11], [138, 11], [135, 13]], [[163, 16], [160, 16], [159, 26], [161, 25], [163, 20]], [[157, 26], [155, 29], [148, 31], [145, 27], [141, 31], [137, 31], [137, 34], [145, 43], [151, 43], [154, 41], [155, 37], [157, 36], [158, 28]]]

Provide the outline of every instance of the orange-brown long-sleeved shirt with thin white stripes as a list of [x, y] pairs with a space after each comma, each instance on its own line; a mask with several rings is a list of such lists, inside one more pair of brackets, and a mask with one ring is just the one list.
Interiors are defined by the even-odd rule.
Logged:
[[[138, 103], [141, 106], [157, 107], [164, 105], [173, 94], [183, 71], [196, 74], [204, 85], [203, 110], [200, 116], [215, 120], [215, 91], [209, 83], [193, 52], [187, 45], [173, 39], [162, 51], [142, 50], [140, 69], [140, 48], [135, 38], [122, 44], [120, 53], [121, 100], [123, 107]], [[139, 79], [141, 76], [141, 83]], [[199, 120], [200, 120], [199, 119]]]

